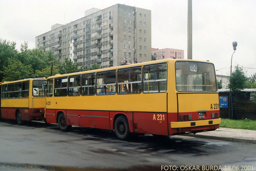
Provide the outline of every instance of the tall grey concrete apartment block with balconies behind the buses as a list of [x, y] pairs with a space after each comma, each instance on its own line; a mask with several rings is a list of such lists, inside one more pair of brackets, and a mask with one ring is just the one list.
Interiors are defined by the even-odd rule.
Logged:
[[52, 25], [36, 37], [36, 47], [52, 50], [61, 62], [113, 67], [151, 61], [151, 10], [116, 4], [92, 8], [85, 17]]

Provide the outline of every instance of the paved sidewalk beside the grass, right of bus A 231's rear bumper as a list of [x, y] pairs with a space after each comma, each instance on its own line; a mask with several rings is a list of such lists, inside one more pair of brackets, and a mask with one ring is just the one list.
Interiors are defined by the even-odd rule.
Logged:
[[184, 134], [184, 136], [256, 143], [256, 131], [247, 129], [218, 128], [215, 131], [196, 133], [195, 135]]

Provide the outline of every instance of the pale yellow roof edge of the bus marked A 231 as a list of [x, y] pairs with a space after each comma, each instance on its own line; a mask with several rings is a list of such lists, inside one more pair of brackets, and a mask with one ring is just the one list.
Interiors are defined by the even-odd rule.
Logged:
[[157, 64], [157, 63], [163, 63], [163, 62], [175, 63], [176, 61], [195, 61], [195, 62], [197, 61], [197, 62], [212, 63], [212, 62], [209, 62], [209, 61], [200, 61], [200, 60], [191, 60], [191, 59], [172, 59], [172, 58], [169, 58], [169, 59], [161, 59], [161, 60], [156, 60], [156, 61], [141, 62], [141, 63], [135, 63], [135, 64], [111, 67], [111, 68], [102, 68], [102, 69], [97, 69], [97, 70], [81, 71], [81, 72], [62, 74], [62, 75], [56, 74], [54, 76], [49, 76], [47, 79], [63, 77], [63, 76], [70, 76], [70, 75], [80, 75], [80, 74], [92, 73], [92, 72], [102, 72], [102, 71], [109, 71], [109, 70], [116, 70], [116, 69], [125, 69], [125, 68], [130, 68], [130, 67], [136, 67], [136, 66], [148, 65], [148, 64]]

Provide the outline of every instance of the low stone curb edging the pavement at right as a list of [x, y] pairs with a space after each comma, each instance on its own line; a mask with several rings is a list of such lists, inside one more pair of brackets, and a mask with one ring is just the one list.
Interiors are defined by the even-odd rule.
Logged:
[[207, 139], [216, 139], [216, 140], [225, 140], [225, 141], [235, 141], [235, 142], [256, 143], [256, 140], [253, 140], [253, 139], [218, 137], [218, 136], [199, 135], [199, 134], [195, 134], [195, 135], [194, 134], [185, 134], [185, 135], [182, 135], [182, 136], [197, 137], [197, 138], [207, 138]]

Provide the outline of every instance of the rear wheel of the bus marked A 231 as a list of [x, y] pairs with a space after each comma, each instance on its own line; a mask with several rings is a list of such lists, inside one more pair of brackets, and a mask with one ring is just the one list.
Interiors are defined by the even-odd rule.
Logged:
[[125, 140], [129, 136], [129, 124], [124, 116], [118, 116], [118, 118], [115, 120], [115, 135], [121, 139]]

